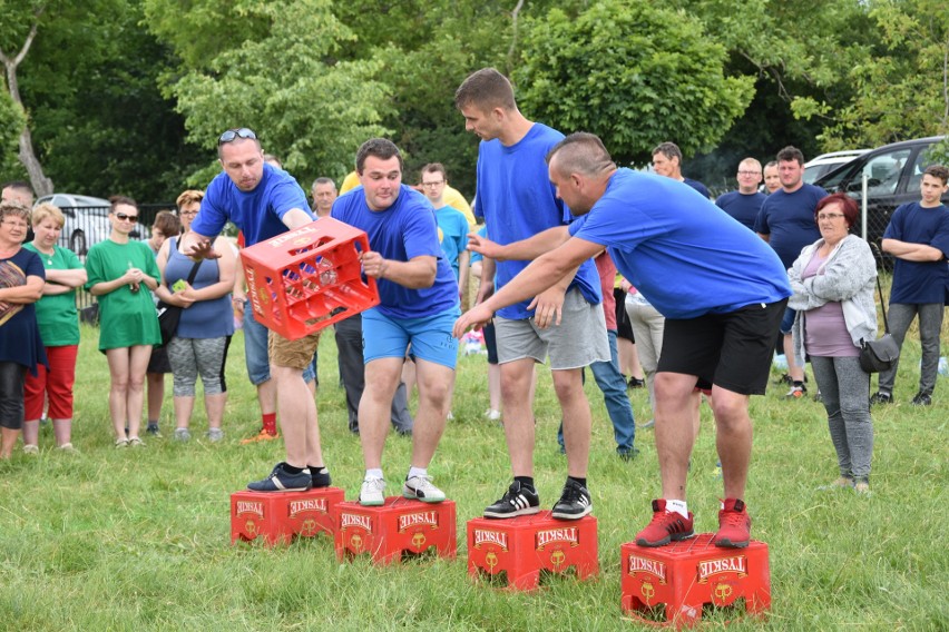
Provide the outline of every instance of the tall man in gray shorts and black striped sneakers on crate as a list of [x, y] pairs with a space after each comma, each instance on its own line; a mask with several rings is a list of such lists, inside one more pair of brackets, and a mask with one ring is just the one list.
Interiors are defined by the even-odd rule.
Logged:
[[[464, 117], [466, 129], [481, 138], [474, 213], [485, 218], [490, 239], [503, 246], [570, 221], [544, 162], [547, 151], [564, 135], [525, 118], [510, 81], [493, 68], [470, 75], [456, 91], [454, 105]], [[498, 287], [503, 287], [526, 266], [525, 260], [495, 261], [486, 255], [478, 300], [488, 297], [496, 277]], [[610, 361], [599, 277], [593, 261], [584, 260], [552, 280], [554, 287], [531, 297], [532, 302], [525, 297], [505, 306], [495, 317], [505, 437], [513, 483], [485, 510], [487, 517], [540, 511], [534, 486], [535, 419], [530, 394], [534, 365], [548, 355], [567, 453], [567, 481], [551, 515], [577, 520], [593, 510], [587, 490], [593, 418], [584, 393], [583, 367]]]

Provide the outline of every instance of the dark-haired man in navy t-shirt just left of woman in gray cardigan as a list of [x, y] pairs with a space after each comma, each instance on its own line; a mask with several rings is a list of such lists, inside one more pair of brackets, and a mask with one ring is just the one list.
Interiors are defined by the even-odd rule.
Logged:
[[[814, 209], [828, 192], [821, 187], [804, 182], [804, 155], [796, 147], [787, 146], [777, 152], [777, 175], [781, 188], [767, 196], [754, 224], [754, 230], [767, 241], [781, 258], [784, 269], [791, 267], [801, 249], [820, 239], [821, 231], [814, 221]], [[806, 393], [804, 367], [794, 361], [794, 343], [791, 329], [796, 312], [790, 307], [781, 322], [784, 336], [784, 357], [787, 374], [783, 378], [791, 389], [787, 399], [801, 399]]]

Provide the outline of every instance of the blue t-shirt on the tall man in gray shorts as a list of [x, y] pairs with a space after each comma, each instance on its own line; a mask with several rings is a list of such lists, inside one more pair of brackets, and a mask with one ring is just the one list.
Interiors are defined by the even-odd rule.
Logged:
[[[481, 141], [478, 147], [478, 195], [474, 215], [491, 227], [490, 238], [501, 245], [520, 241], [555, 226], [573, 221], [570, 211], [557, 199], [547, 174], [545, 158], [564, 139], [559, 131], [536, 122], [527, 135], [510, 147], [498, 139]], [[495, 283], [507, 285], [530, 261], [497, 261]], [[584, 261], [568, 289], [579, 288], [590, 304], [600, 302], [599, 276], [593, 259]], [[530, 300], [498, 310], [511, 320], [534, 316]]]

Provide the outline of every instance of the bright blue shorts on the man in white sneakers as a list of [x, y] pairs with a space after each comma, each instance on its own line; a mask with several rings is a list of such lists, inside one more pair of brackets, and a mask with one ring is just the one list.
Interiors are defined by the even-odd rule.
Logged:
[[411, 343], [413, 359], [454, 368], [458, 362], [458, 338], [451, 330], [459, 316], [461, 309], [457, 305], [421, 318], [390, 318], [375, 308], [363, 312], [363, 362], [370, 363], [383, 357], [405, 357], [405, 349]]

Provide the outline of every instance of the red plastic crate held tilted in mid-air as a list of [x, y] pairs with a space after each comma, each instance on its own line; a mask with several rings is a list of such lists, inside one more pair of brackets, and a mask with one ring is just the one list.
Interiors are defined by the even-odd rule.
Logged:
[[260, 323], [295, 340], [379, 305], [362, 279], [365, 233], [324, 217], [241, 250], [247, 297]]

